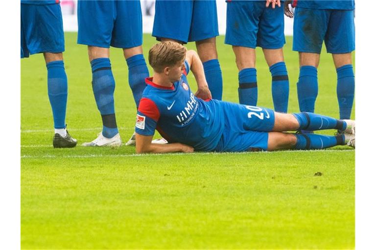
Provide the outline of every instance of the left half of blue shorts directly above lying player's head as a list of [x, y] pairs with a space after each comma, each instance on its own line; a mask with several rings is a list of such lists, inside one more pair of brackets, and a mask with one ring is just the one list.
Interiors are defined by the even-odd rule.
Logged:
[[188, 42], [192, 20], [193, 1], [156, 0], [152, 36], [158, 41], [169, 38]]

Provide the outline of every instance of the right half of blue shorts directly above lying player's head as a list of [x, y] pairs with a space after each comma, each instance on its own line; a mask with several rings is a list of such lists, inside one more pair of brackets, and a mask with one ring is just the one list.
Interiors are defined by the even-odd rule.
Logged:
[[215, 38], [218, 35], [216, 2], [193, 1], [192, 21], [188, 42]]

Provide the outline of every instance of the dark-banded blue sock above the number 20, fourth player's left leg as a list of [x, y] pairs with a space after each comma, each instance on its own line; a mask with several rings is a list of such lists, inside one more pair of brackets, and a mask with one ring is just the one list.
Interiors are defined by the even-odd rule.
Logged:
[[239, 103], [256, 106], [257, 104], [257, 77], [255, 68], [245, 68], [239, 72]]

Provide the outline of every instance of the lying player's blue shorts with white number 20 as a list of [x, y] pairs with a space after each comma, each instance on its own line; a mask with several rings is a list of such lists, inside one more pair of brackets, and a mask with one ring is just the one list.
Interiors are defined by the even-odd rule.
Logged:
[[268, 149], [268, 132], [274, 127], [272, 109], [222, 102], [225, 129], [215, 151], [242, 152]]

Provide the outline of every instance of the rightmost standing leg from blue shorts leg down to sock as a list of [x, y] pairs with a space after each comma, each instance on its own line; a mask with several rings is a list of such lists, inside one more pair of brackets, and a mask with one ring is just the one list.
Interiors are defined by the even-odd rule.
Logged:
[[351, 52], [355, 49], [355, 27], [352, 10], [331, 11], [325, 44], [327, 51], [333, 55], [337, 70], [339, 117], [340, 119], [350, 119], [355, 90], [351, 55]]

